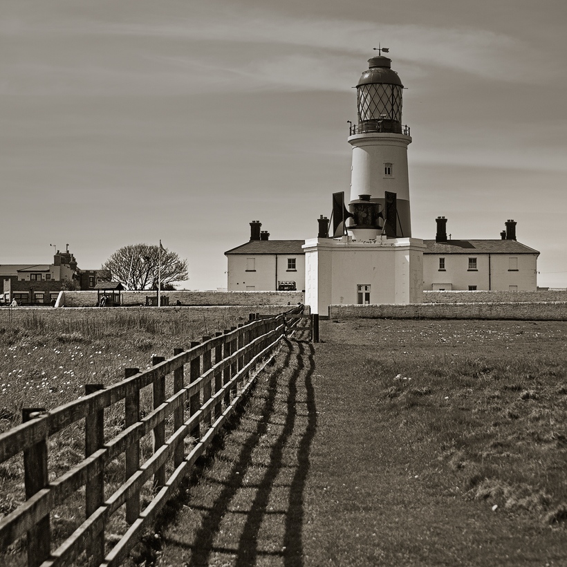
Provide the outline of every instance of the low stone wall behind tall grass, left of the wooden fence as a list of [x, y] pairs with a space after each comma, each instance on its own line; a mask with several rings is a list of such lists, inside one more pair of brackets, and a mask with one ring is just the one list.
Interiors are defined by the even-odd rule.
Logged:
[[[214, 306], [214, 307], [79, 307], [75, 309], [53, 309], [51, 307], [2, 307], [0, 308], [0, 328], [7, 325], [34, 326], [39, 321], [44, 321], [49, 326], [65, 324], [67, 322], [106, 322], [115, 320], [124, 322], [128, 317], [136, 320], [143, 317], [144, 320], [161, 321], [164, 319], [201, 320], [207, 315], [213, 314], [217, 317], [225, 317], [232, 325], [248, 322], [250, 313], [262, 313], [263, 315], [278, 315], [288, 310], [288, 306]], [[223, 331], [218, 328], [214, 331]], [[0, 335], [1, 337], [1, 335]]]

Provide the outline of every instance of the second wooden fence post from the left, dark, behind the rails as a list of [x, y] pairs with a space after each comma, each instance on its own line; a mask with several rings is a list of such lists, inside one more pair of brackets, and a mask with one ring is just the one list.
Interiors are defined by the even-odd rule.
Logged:
[[[85, 384], [85, 396], [104, 390], [104, 384]], [[104, 446], [104, 409], [89, 413], [84, 420], [84, 456], [89, 457]], [[101, 461], [102, 463], [102, 461]], [[85, 512], [88, 519], [104, 503], [104, 465], [100, 472], [91, 478], [85, 486]], [[86, 548], [86, 557], [93, 565], [99, 565], [104, 559], [104, 528], [93, 534]]]

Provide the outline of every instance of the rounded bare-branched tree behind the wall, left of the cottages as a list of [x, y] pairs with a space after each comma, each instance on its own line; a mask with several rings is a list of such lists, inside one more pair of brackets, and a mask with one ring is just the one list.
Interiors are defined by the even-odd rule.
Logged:
[[[161, 267], [161, 268], [160, 268]], [[162, 289], [174, 281], [188, 279], [187, 260], [176, 252], [149, 244], [122, 246], [102, 264], [112, 281], [120, 281], [131, 290], [158, 289], [158, 272], [161, 271]]]

